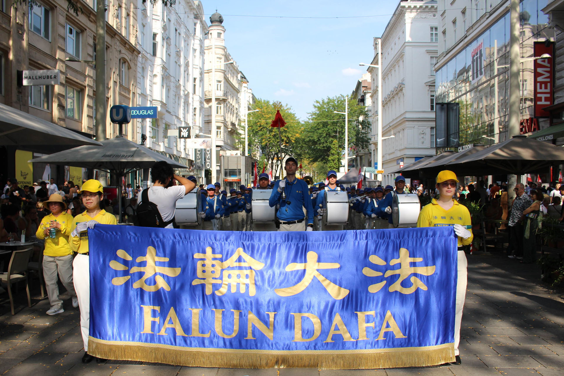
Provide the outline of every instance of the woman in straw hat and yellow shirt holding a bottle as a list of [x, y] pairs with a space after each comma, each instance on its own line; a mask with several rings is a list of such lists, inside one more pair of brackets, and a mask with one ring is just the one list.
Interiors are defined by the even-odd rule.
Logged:
[[[78, 299], [74, 292], [72, 278], [72, 250], [69, 245], [70, 226], [72, 226], [72, 215], [65, 213], [67, 204], [60, 194], [53, 193], [49, 200], [43, 202], [43, 207], [49, 209], [51, 214], [41, 220], [36, 236], [45, 239], [45, 250], [43, 250], [43, 278], [47, 287], [47, 297], [51, 308], [47, 315], [56, 315], [64, 312], [63, 300], [59, 299], [59, 285], [57, 284], [57, 273], [59, 278], [72, 298], [72, 306], [78, 307]], [[35, 210], [35, 208], [34, 208]], [[55, 237], [50, 236], [54, 230]]]

